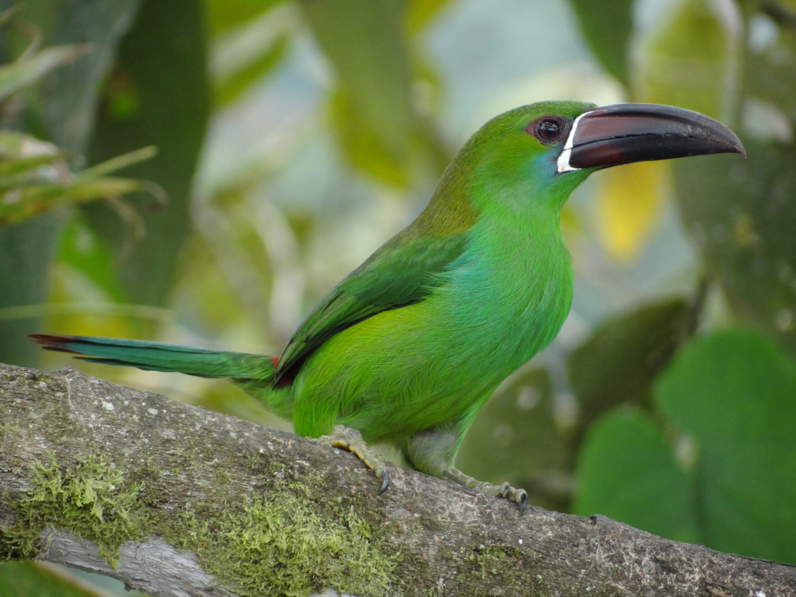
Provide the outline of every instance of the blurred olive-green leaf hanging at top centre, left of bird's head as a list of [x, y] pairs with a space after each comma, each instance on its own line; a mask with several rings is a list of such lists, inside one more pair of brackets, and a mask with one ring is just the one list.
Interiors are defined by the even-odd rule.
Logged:
[[353, 114], [363, 121], [357, 128], [373, 131], [390, 158], [404, 165], [412, 126], [404, 0], [301, 0], [300, 4], [318, 44], [334, 64]]

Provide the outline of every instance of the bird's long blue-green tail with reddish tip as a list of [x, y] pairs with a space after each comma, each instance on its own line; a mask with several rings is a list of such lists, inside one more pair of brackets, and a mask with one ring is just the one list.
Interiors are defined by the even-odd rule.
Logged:
[[45, 349], [85, 355], [84, 361], [172, 371], [198, 377], [236, 377], [267, 381], [274, 377], [277, 359], [260, 354], [232, 353], [125, 338], [96, 338], [60, 334], [29, 334]]

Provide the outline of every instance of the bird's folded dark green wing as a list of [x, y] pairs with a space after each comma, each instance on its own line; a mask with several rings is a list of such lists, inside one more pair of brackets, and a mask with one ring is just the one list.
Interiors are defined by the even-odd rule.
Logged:
[[443, 283], [439, 274], [466, 247], [464, 232], [408, 236], [395, 236], [382, 245], [315, 307], [279, 358], [275, 383], [293, 377], [305, 357], [339, 331], [423, 299]]

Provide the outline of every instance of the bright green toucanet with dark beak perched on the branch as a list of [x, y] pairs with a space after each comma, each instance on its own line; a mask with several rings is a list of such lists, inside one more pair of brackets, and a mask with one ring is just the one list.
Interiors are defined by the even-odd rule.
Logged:
[[491, 119], [447, 166], [423, 212], [310, 312], [280, 356], [155, 341], [29, 334], [85, 361], [228, 377], [295, 433], [517, 502], [525, 490], [455, 468], [478, 410], [548, 345], [572, 302], [560, 213], [595, 170], [736, 153], [724, 124], [650, 103], [546, 101]]

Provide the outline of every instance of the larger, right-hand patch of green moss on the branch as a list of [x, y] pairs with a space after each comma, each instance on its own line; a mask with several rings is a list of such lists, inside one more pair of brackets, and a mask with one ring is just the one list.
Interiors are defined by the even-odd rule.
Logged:
[[277, 479], [213, 526], [183, 513], [166, 540], [195, 552], [205, 570], [241, 595], [309, 595], [326, 588], [361, 597], [396, 595], [397, 557], [384, 554], [370, 525], [353, 508], [330, 516], [305, 489]]

